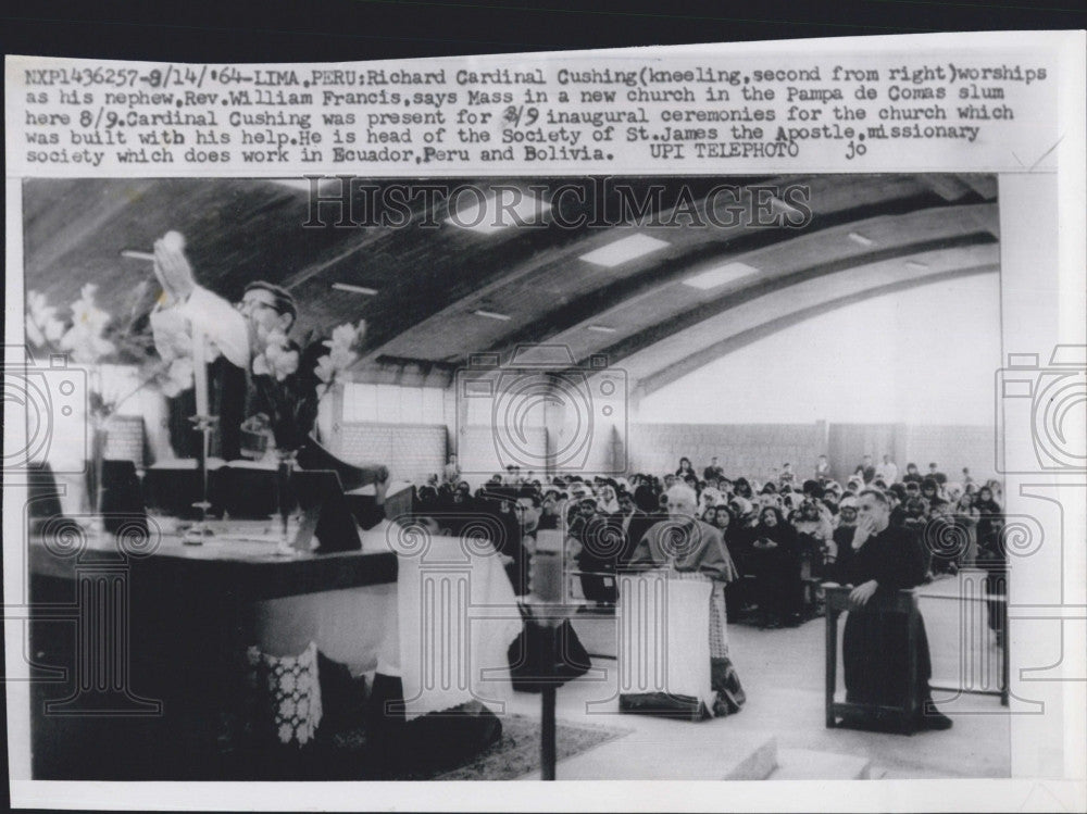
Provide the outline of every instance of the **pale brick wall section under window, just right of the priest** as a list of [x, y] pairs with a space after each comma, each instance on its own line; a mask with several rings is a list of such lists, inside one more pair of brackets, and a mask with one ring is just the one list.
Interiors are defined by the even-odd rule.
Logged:
[[446, 463], [442, 424], [341, 423], [332, 436], [334, 454], [348, 463], [383, 463], [395, 480], [425, 480]]

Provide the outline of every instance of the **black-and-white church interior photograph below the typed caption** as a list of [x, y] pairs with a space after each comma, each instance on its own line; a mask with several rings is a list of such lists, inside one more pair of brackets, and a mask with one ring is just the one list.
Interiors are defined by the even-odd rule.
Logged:
[[995, 176], [23, 199], [36, 778], [1009, 775]]

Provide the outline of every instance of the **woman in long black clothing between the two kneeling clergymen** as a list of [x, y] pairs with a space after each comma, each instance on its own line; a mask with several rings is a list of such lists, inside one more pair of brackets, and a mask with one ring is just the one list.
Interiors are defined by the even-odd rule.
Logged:
[[763, 627], [800, 623], [800, 547], [796, 529], [777, 506], [763, 506], [751, 531], [751, 559]]

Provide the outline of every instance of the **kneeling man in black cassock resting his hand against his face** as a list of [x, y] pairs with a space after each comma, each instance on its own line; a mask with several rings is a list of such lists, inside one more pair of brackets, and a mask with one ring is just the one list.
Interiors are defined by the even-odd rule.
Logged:
[[[921, 585], [925, 562], [919, 541], [908, 529], [890, 525], [887, 497], [865, 489], [859, 501], [859, 521], [850, 542], [845, 568], [848, 585], [855, 586], [842, 639], [846, 700], [853, 703], [899, 706], [909, 680], [908, 618], [904, 614], [864, 612], [861, 609], [879, 592]], [[932, 661], [924, 621], [919, 619], [916, 640], [917, 725], [948, 729], [951, 719], [932, 704], [928, 680]], [[926, 709], [927, 706], [927, 709]], [[878, 722], [876, 722], [878, 723]]]

